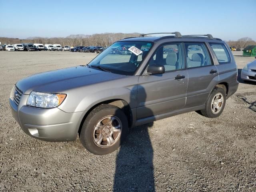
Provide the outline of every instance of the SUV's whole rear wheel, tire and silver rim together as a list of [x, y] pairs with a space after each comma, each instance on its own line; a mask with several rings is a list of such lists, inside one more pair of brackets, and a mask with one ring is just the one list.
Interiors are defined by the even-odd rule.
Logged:
[[220, 116], [224, 110], [225, 104], [226, 92], [220, 87], [215, 87], [206, 101], [205, 108], [200, 110], [200, 112], [205, 117], [215, 118]]

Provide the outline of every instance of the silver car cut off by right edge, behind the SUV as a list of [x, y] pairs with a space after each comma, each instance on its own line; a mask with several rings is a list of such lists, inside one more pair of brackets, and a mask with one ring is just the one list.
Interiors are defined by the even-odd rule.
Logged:
[[256, 82], [256, 60], [244, 66], [244, 68], [241, 71], [241, 79], [244, 81]]

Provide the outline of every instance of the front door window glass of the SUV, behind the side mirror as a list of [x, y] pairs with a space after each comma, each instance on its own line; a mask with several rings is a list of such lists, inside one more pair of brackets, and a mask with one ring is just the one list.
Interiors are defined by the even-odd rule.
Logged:
[[166, 72], [184, 69], [181, 44], [160, 46], [150, 59], [149, 65], [162, 65]]

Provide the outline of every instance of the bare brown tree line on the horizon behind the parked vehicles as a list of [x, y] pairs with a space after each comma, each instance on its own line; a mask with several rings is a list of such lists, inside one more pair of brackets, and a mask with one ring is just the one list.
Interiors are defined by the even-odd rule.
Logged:
[[[61, 44], [62, 46], [110, 46], [114, 42], [128, 37], [138, 37], [139, 33], [102, 33], [92, 35], [70, 35], [66, 38], [54, 37], [54, 38], [41, 38], [32, 37], [27, 39], [19, 38], [5, 38], [0, 37], [2, 44], [17, 44], [17, 43], [41, 43], [41, 44]], [[242, 50], [248, 45], [256, 45], [256, 42], [252, 38], [244, 37], [237, 41], [226, 41], [230, 47]]]

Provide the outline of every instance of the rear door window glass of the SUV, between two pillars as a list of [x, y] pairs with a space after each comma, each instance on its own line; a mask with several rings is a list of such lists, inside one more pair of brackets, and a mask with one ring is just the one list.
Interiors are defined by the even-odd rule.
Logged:
[[204, 43], [185, 43], [187, 68], [212, 65]]

